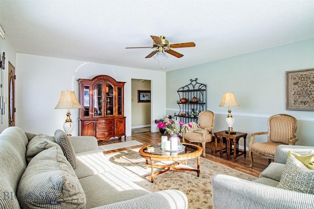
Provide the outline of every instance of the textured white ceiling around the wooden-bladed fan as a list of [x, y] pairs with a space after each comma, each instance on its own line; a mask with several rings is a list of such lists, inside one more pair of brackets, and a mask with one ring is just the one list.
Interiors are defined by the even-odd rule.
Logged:
[[[0, 23], [17, 52], [125, 66], [176, 70], [314, 38], [313, 0], [0, 1]], [[176, 48], [160, 69], [150, 35]]]

